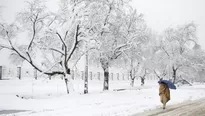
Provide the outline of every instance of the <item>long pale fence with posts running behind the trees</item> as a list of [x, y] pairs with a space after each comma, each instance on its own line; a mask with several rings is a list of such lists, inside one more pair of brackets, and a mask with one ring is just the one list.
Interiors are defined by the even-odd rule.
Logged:
[[[31, 68], [22, 68], [22, 67], [3, 67], [0, 66], [0, 80], [3, 79], [39, 79], [39, 78], [59, 78], [59, 76], [46, 76], [38, 72], [36, 69]], [[62, 76], [60, 76], [62, 78]], [[73, 80], [81, 79], [84, 80], [84, 71], [77, 71], [77, 70], [71, 70], [71, 78]], [[129, 80], [129, 73], [119, 73], [119, 72], [110, 72], [109, 73], [110, 80]], [[63, 79], [63, 78], [62, 78]], [[104, 79], [103, 72], [94, 72], [89, 71], [88, 72], [88, 79], [89, 80], [99, 80], [102, 81]], [[136, 80], [140, 80], [139, 77], [136, 78]], [[146, 80], [158, 80], [158, 78], [154, 74], [149, 74], [146, 76]]]

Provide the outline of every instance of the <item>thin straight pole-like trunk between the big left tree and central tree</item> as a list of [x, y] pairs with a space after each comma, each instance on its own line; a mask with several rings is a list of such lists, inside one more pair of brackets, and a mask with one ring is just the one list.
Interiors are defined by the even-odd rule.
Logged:
[[86, 43], [84, 94], [87, 93], [88, 93], [88, 51], [87, 51], [87, 43]]

